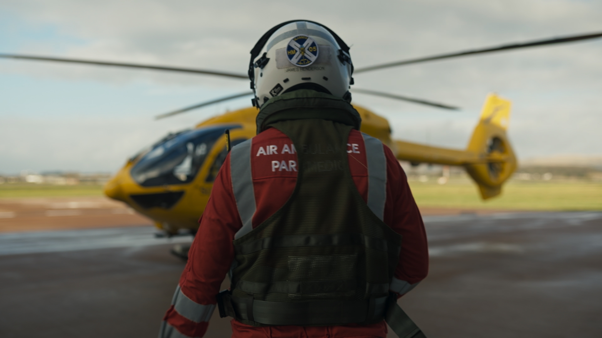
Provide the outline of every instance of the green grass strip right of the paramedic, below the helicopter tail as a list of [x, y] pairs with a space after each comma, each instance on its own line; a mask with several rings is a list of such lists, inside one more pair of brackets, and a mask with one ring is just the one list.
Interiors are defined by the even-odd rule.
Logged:
[[421, 207], [453, 207], [510, 210], [602, 210], [602, 183], [594, 182], [509, 182], [498, 197], [481, 200], [474, 183], [453, 180], [410, 182]]

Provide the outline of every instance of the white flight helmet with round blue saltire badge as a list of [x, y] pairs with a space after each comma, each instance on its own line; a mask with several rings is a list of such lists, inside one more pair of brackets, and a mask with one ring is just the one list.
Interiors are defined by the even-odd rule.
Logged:
[[259, 39], [251, 51], [249, 78], [253, 105], [285, 91], [314, 89], [351, 101], [353, 64], [349, 47], [320, 23], [281, 23]]

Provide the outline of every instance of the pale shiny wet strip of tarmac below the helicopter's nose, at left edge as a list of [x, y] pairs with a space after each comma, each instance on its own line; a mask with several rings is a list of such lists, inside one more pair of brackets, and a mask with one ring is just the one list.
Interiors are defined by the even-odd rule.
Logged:
[[155, 227], [0, 234], [0, 256], [191, 243], [191, 236], [155, 238]]

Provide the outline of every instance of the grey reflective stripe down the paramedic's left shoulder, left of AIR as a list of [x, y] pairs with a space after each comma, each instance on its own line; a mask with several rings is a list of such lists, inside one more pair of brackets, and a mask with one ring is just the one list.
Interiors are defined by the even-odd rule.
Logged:
[[252, 138], [237, 144], [230, 152], [230, 176], [236, 207], [243, 227], [234, 235], [234, 239], [253, 230], [253, 214], [255, 214], [255, 191], [253, 191], [253, 176], [251, 174], [251, 145]]

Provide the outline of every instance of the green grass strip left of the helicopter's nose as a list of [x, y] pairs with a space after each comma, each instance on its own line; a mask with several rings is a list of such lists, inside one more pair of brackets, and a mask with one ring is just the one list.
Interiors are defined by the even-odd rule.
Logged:
[[46, 185], [34, 183], [4, 183], [0, 185], [0, 198], [89, 197], [102, 195], [102, 185]]

